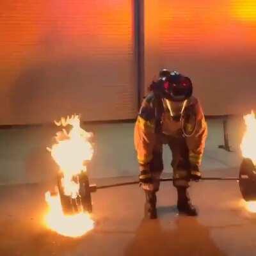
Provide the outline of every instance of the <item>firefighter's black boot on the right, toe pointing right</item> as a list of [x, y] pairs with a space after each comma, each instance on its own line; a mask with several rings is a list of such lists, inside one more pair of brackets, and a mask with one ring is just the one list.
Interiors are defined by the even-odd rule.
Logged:
[[179, 213], [186, 214], [188, 216], [197, 216], [198, 213], [195, 209], [195, 206], [193, 206], [190, 202], [187, 188], [178, 187], [177, 193], [178, 193], [177, 208], [179, 210]]

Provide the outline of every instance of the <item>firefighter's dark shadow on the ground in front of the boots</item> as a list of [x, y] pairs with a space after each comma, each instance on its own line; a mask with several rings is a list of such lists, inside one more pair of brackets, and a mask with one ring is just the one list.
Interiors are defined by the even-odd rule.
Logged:
[[[172, 207], [164, 211], [170, 212]], [[201, 225], [196, 218], [178, 217], [173, 224], [174, 227], [170, 228], [163, 227], [159, 220], [141, 221], [125, 255], [225, 255], [212, 241], [209, 228]]]

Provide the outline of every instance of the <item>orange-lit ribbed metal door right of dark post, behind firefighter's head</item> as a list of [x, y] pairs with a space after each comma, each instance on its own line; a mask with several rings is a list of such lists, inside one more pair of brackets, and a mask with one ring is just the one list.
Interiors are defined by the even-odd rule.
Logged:
[[246, 113], [256, 107], [255, 60], [255, 1], [145, 1], [145, 87], [175, 69], [207, 115]]

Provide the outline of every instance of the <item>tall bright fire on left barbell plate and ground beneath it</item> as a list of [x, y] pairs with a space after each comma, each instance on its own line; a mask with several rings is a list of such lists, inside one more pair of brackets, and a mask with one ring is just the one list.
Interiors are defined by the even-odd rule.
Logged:
[[[61, 178], [63, 195], [68, 196], [70, 200], [72, 198], [76, 200], [76, 198], [80, 198], [79, 182], [74, 177], [78, 177], [81, 171], [86, 172], [86, 161], [92, 159], [93, 147], [89, 141], [92, 138], [92, 133], [86, 132], [80, 127], [78, 115], [72, 115], [71, 118], [68, 116], [67, 119], [61, 118], [60, 122], [54, 122], [58, 126], [70, 125], [72, 127], [69, 132], [66, 129], [57, 132], [56, 143], [47, 150], [51, 152], [52, 158], [63, 174]], [[66, 215], [61, 207], [59, 193], [56, 196], [51, 196], [48, 191], [45, 193], [45, 200], [49, 205], [49, 212], [45, 216], [47, 227], [69, 237], [83, 236], [88, 230], [92, 230], [93, 220], [90, 218], [90, 214], [83, 211], [83, 206], [80, 205], [75, 214]]]

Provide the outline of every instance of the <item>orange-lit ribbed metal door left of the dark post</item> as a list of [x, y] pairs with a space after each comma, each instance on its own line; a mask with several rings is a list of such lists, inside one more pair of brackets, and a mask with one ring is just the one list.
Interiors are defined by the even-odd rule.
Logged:
[[3, 0], [0, 123], [135, 118], [131, 0]]

